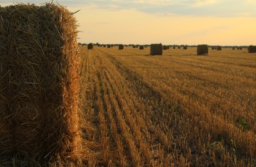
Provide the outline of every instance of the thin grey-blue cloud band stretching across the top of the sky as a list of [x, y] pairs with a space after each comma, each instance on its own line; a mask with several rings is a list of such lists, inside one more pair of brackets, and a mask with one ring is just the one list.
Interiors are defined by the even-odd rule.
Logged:
[[[12, 4], [13, 2], [13, 0], [1, 0], [1, 4]], [[40, 4], [45, 1], [23, 0], [21, 2]], [[58, 0], [56, 2], [65, 6], [77, 7], [93, 4], [95, 8], [104, 10], [134, 9], [139, 12], [157, 15], [170, 15], [171, 13], [172, 15], [215, 17], [237, 17], [237, 15], [243, 15], [244, 17], [256, 17], [255, 0]]]

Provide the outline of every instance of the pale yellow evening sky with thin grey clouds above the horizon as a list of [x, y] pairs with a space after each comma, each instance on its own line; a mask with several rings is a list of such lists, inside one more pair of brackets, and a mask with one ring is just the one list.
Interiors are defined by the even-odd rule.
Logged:
[[[0, 0], [42, 4], [41, 0]], [[78, 42], [256, 45], [256, 0], [54, 0], [76, 12]]]

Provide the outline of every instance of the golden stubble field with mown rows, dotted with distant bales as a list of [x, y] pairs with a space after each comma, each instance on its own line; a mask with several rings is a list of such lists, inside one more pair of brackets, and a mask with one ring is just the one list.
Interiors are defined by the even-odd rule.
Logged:
[[255, 166], [256, 53], [149, 50], [80, 48], [85, 163]]

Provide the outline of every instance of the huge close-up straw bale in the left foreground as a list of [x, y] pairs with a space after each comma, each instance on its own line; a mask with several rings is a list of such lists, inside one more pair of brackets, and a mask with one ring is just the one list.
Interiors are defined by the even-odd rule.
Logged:
[[80, 58], [73, 13], [53, 3], [15, 4], [0, 6], [0, 18], [0, 159], [77, 159]]

